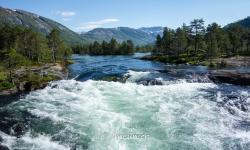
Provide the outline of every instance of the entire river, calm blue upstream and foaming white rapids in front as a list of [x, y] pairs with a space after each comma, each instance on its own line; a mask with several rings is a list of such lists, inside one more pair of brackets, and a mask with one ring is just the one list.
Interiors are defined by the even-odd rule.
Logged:
[[22, 150], [247, 150], [250, 88], [208, 68], [73, 55], [70, 79], [2, 98], [0, 142]]

